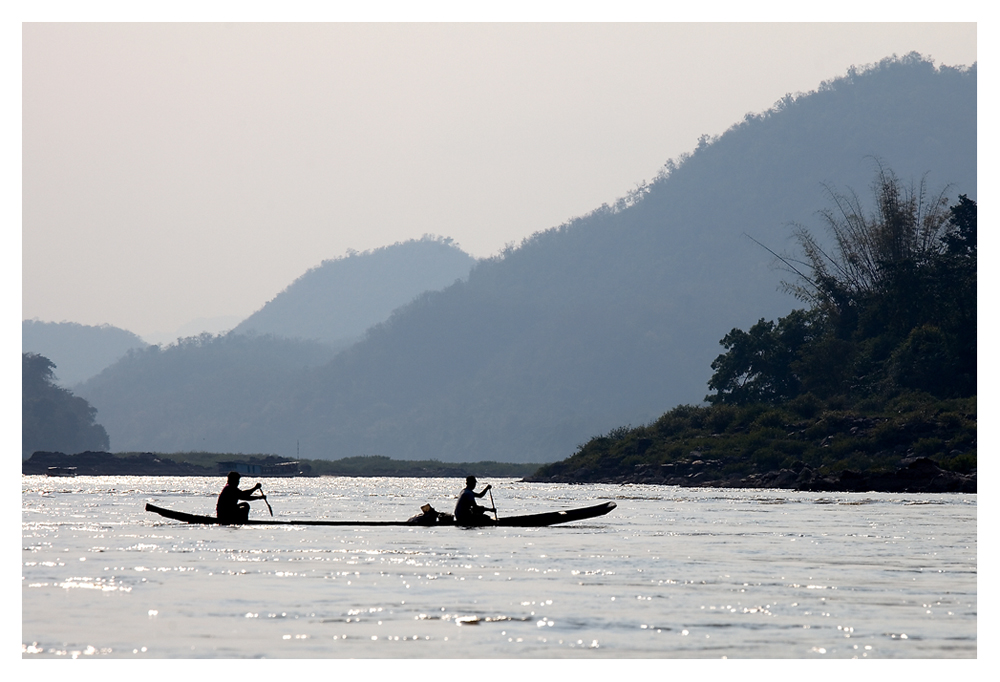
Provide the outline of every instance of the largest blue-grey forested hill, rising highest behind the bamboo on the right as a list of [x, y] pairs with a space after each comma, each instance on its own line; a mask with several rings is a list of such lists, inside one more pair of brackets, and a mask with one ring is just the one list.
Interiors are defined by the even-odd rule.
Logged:
[[[887, 60], [748, 115], [617, 205], [397, 310], [239, 428], [206, 410], [215, 442], [197, 449], [548, 462], [700, 402], [719, 339], [796, 307], [747, 235], [790, 249], [790, 224], [815, 226], [827, 205], [824, 183], [865, 193], [873, 156], [974, 199], [975, 67]], [[111, 409], [113, 389], [84, 395], [116, 444], [163, 448], [129, 440], [141, 400]]]

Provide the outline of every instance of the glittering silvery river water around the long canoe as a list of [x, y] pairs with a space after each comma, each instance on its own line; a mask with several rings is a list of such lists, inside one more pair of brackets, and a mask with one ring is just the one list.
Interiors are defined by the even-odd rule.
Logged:
[[[261, 482], [286, 520], [403, 520], [462, 488]], [[976, 495], [487, 482], [500, 515], [618, 507], [547, 528], [193, 526], [144, 505], [213, 514], [222, 477], [22, 476], [22, 658], [977, 656]]]

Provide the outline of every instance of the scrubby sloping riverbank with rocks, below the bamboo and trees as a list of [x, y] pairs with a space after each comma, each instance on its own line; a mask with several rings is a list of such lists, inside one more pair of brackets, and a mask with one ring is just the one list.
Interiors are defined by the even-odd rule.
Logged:
[[820, 492], [977, 489], [976, 399], [682, 405], [596, 436], [526, 480]]

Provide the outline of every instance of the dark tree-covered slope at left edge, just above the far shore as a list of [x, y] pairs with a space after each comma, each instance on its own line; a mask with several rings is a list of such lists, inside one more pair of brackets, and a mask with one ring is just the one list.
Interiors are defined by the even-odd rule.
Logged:
[[35, 450], [107, 450], [97, 410], [57, 386], [56, 365], [37, 353], [21, 354], [21, 459]]

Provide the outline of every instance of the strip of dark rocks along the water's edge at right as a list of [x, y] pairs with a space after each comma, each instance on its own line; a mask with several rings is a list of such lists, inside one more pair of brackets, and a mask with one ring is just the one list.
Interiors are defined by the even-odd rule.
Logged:
[[780, 469], [748, 476], [726, 475], [719, 460], [694, 460], [673, 464], [639, 464], [631, 473], [600, 475], [577, 470], [567, 474], [526, 477], [528, 483], [619, 483], [677, 485], [690, 488], [780, 488], [810, 492], [975, 493], [976, 472], [960, 474], [942, 469], [927, 457], [911, 457], [892, 472], [844, 470], [822, 475], [797, 462]]

